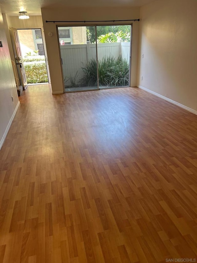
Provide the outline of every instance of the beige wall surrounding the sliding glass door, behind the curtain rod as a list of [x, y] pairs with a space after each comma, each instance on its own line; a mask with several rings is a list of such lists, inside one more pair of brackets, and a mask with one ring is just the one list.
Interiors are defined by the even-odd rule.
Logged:
[[[63, 92], [63, 81], [61, 74], [61, 64], [59, 57], [59, 42], [57, 38], [56, 25], [65, 23], [46, 23], [46, 20], [121, 20], [121, 19], [138, 19], [140, 8], [125, 7], [106, 7], [106, 8], [66, 8], [66, 9], [47, 9], [41, 8], [42, 21], [45, 32], [46, 50], [49, 60], [49, 69], [53, 93]], [[129, 23], [129, 22], [128, 22]], [[66, 24], [70, 26], [70, 24]], [[75, 25], [84, 25], [84, 23], [75, 23]], [[88, 24], [86, 24], [88, 25]], [[92, 24], [89, 24], [92, 25]], [[48, 35], [49, 32], [53, 36]], [[139, 22], [133, 23], [132, 35], [132, 54], [131, 54], [131, 86], [137, 84], [137, 60], [138, 60], [138, 39], [139, 39]]]

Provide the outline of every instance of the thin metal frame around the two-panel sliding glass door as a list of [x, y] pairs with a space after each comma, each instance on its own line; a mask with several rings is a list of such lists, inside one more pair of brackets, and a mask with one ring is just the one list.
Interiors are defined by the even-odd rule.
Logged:
[[[107, 22], [101, 22], [101, 23], [94, 23], [94, 24], [91, 24], [91, 23], [86, 23], [86, 25], [84, 25], [84, 23], [77, 23], [77, 24], [58, 24], [56, 25], [56, 33], [57, 33], [57, 41], [59, 43], [59, 35], [58, 35], [58, 27], [95, 27], [95, 36], [96, 36], [96, 39], [97, 39], [97, 30], [96, 30], [96, 27], [97, 26], [131, 26], [131, 33], [130, 33], [130, 59], [129, 59], [129, 85], [128, 86], [119, 86], [119, 87], [109, 87], [109, 88], [99, 88], [99, 82], [98, 82], [98, 46], [97, 46], [97, 41], [96, 41], [96, 61], [97, 61], [97, 86], [98, 86], [98, 89], [97, 90], [102, 90], [102, 89], [111, 89], [111, 88], [128, 88], [128, 87], [131, 87], [131, 52], [132, 52], [132, 29], [133, 29], [133, 23], [107, 23]], [[58, 50], [59, 50], [59, 58], [60, 58], [60, 66], [61, 66], [61, 73], [62, 73], [62, 84], [63, 84], [63, 87], [64, 87], [64, 77], [63, 77], [63, 69], [62, 69], [62, 58], [61, 58], [61, 50], [60, 50], [60, 45], [58, 44]], [[93, 89], [93, 90], [96, 90], [96, 89]], [[91, 90], [88, 90], [88, 91], [91, 91]], [[81, 91], [70, 91], [70, 92], [81, 92]], [[68, 92], [65, 92], [65, 87], [64, 87], [64, 93], [69, 93]]]

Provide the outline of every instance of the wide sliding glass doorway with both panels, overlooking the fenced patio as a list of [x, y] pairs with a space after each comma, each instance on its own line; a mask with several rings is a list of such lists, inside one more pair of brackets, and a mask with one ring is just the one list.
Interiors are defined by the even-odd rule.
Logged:
[[130, 86], [131, 25], [57, 31], [65, 92]]

